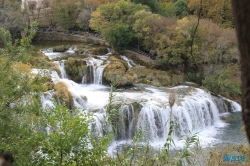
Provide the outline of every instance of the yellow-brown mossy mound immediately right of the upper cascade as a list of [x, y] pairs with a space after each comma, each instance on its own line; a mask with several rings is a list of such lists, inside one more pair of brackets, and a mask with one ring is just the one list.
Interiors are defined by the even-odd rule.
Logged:
[[110, 56], [108, 60], [110, 60], [111, 63], [104, 69], [103, 83], [112, 83], [117, 87], [132, 85], [132, 76], [126, 74], [128, 69], [127, 63], [124, 63], [124, 60], [118, 59], [114, 56]]

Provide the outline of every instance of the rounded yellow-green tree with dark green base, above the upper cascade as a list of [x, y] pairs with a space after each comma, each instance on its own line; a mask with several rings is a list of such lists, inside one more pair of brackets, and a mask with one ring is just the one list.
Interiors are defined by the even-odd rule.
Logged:
[[134, 37], [132, 17], [140, 10], [148, 10], [148, 7], [123, 0], [100, 5], [92, 13], [90, 27], [101, 33], [114, 49], [121, 52]]

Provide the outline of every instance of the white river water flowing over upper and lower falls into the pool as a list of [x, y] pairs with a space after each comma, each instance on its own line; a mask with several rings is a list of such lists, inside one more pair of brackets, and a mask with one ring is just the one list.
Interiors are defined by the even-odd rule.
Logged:
[[[74, 53], [72, 48], [69, 51]], [[62, 53], [55, 53], [51, 49], [42, 52], [51, 60], [62, 56]], [[83, 76], [81, 84], [67, 79], [64, 61], [55, 61], [61, 70], [61, 78], [55, 71], [51, 73], [55, 83], [64, 82], [67, 85], [76, 107], [94, 115], [91, 128], [97, 135], [105, 135], [103, 133], [105, 127], [112, 130], [111, 126], [102, 125], [106, 117], [105, 106], [108, 104], [110, 91], [110, 87], [102, 85], [102, 76], [105, 67], [110, 63], [107, 60], [109, 55], [110, 53], [84, 59], [87, 64], [87, 74]], [[126, 56], [121, 58], [127, 61], [129, 68], [136, 65]], [[173, 89], [176, 92], [176, 101], [170, 108], [169, 95]], [[114, 104], [119, 107], [117, 114], [119, 130], [109, 148], [111, 155], [119, 144], [130, 143], [137, 131], [142, 131], [144, 142], [149, 141], [156, 148], [162, 147], [168, 135], [170, 112], [176, 124], [173, 138], [177, 142], [177, 147], [183, 146], [183, 142], [177, 141], [178, 138], [190, 132], [198, 133], [201, 145], [204, 146], [218, 142], [245, 141], [244, 135], [237, 139], [234, 134], [235, 131], [241, 132], [239, 128], [242, 121], [237, 118], [241, 106], [224, 97], [215, 97], [209, 92], [191, 86], [166, 88], [144, 84], [117, 89], [114, 93]], [[52, 96], [53, 91], [49, 91], [42, 97], [44, 108], [53, 107]], [[225, 115], [231, 116], [232, 120], [220, 120], [220, 117]]]

